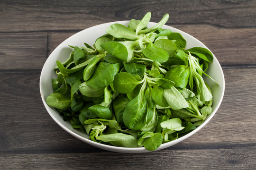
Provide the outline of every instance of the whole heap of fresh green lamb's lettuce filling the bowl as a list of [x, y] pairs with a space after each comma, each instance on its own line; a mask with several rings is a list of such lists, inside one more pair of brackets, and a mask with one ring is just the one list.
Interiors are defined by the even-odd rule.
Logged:
[[148, 12], [128, 27], [113, 24], [93, 46], [70, 46], [70, 57], [56, 61], [54, 93], [46, 102], [92, 141], [154, 151], [212, 112], [202, 78], [211, 52], [185, 50], [181, 34], [162, 29], [168, 14], [147, 28], [150, 18]]

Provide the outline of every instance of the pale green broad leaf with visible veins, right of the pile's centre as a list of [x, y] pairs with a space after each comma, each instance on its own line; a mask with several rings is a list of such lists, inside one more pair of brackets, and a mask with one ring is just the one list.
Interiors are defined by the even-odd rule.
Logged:
[[188, 107], [188, 103], [185, 98], [174, 86], [170, 89], [165, 89], [163, 95], [173, 110], [180, 110]]

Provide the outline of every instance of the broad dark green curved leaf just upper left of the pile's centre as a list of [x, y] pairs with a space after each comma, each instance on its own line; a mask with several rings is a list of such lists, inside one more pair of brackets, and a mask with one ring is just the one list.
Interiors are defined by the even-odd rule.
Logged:
[[[115, 68], [110, 63], [101, 62], [93, 76], [87, 81], [87, 85], [93, 88], [102, 88], [113, 82]], [[90, 96], [88, 96], [90, 97]]]

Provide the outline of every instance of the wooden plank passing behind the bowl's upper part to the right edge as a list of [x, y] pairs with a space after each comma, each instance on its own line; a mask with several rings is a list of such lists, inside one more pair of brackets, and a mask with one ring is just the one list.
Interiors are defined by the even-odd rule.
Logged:
[[[218, 28], [210, 25], [174, 25], [173, 27], [191, 34], [204, 43], [213, 52], [221, 65], [256, 64], [255, 28]], [[49, 33], [47, 56], [57, 45], [75, 33]]]

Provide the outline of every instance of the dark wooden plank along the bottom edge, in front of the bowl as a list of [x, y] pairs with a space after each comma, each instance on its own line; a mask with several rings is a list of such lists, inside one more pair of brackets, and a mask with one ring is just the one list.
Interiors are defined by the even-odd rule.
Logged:
[[162, 150], [151, 153], [17, 153], [0, 154], [6, 170], [255, 170], [256, 147]]

